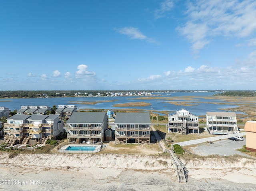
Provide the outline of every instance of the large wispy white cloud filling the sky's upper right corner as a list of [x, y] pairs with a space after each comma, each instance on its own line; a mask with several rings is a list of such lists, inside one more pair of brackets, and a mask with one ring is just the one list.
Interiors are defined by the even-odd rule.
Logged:
[[204, 48], [213, 36], [248, 37], [256, 30], [254, 0], [193, 0], [187, 6], [188, 21], [177, 30], [194, 51]]

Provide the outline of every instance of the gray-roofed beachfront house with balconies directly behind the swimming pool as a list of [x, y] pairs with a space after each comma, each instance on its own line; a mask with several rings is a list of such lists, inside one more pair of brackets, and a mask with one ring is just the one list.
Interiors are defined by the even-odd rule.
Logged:
[[102, 144], [108, 116], [106, 112], [74, 112], [66, 125], [68, 142]]

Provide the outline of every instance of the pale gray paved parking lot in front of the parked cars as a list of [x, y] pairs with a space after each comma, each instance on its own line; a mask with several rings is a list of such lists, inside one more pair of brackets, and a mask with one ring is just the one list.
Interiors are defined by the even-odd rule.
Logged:
[[239, 154], [242, 156], [247, 156], [242, 152], [237, 151], [236, 149], [240, 149], [245, 145], [244, 141], [232, 141], [232, 140], [220, 140], [216, 141], [213, 144], [210, 143], [202, 143], [198, 144], [195, 147], [190, 147], [191, 152], [194, 154], [198, 154], [201, 156], [208, 156], [217, 154], [220, 156], [230, 156], [234, 154]]

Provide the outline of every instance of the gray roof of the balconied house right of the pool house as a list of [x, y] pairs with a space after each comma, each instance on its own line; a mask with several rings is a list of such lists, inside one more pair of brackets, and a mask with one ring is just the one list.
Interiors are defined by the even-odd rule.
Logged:
[[149, 113], [117, 113], [115, 124], [151, 124]]

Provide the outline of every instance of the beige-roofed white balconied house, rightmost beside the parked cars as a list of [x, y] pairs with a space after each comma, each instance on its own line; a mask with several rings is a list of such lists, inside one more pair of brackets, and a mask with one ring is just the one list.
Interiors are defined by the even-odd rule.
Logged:
[[206, 128], [210, 134], [238, 133], [235, 112], [206, 112]]

